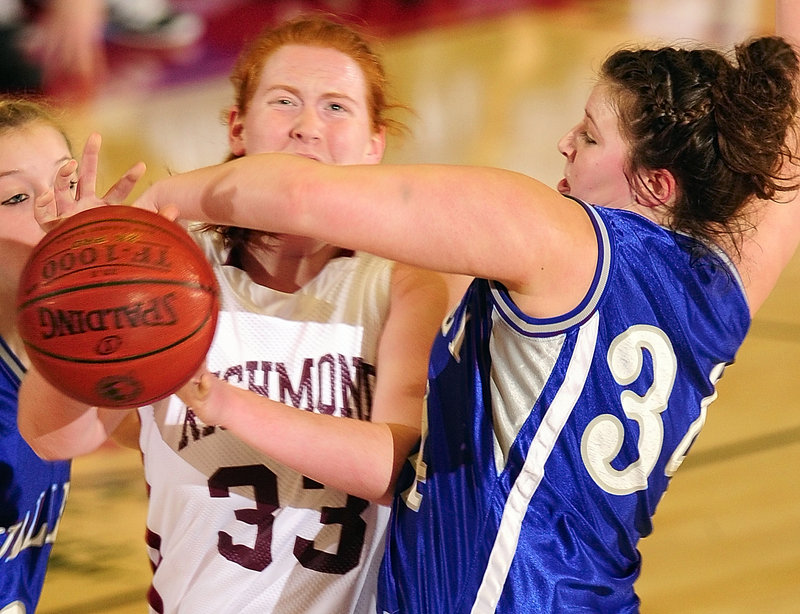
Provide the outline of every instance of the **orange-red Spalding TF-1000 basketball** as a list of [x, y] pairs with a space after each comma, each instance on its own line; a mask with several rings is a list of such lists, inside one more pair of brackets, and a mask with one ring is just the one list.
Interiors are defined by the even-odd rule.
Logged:
[[31, 362], [99, 407], [147, 405], [180, 388], [214, 337], [219, 291], [177, 223], [126, 205], [67, 218], [34, 248], [17, 319]]

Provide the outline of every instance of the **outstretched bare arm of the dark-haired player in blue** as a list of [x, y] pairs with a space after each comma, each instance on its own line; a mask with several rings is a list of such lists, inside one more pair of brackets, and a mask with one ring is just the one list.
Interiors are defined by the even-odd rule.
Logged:
[[135, 204], [174, 204], [185, 219], [311, 236], [495, 279], [540, 317], [575, 307], [597, 261], [594, 230], [580, 205], [501, 169], [337, 166], [256, 154], [160, 180]]

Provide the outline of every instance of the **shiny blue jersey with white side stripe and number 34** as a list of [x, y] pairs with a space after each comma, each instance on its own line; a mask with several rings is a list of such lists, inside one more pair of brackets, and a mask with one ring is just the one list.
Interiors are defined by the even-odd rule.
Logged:
[[586, 207], [593, 285], [563, 317], [476, 280], [430, 362], [379, 612], [636, 612], [637, 542], [750, 315], [721, 255]]

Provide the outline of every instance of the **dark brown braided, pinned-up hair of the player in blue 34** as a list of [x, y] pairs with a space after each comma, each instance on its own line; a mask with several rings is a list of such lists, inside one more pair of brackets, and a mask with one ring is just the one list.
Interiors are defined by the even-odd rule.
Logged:
[[798, 110], [798, 58], [779, 37], [735, 47], [735, 62], [712, 49], [620, 50], [603, 64], [620, 132], [630, 146], [626, 174], [665, 169], [678, 195], [670, 225], [704, 242], [738, 249], [751, 221], [746, 205], [794, 189], [782, 175]]

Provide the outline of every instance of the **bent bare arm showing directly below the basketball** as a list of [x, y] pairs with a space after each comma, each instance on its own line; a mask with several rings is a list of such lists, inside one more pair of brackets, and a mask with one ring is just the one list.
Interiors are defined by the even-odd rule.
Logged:
[[56, 390], [34, 367], [22, 380], [17, 421], [34, 452], [56, 460], [96, 450], [126, 413], [75, 401]]

